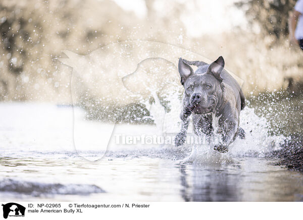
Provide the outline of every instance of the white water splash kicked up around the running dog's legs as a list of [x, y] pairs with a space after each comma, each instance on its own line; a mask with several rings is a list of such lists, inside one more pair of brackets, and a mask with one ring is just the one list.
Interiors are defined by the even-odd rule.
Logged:
[[[159, 101], [156, 101], [151, 109], [157, 109], [157, 111], [151, 111], [151, 115], [155, 120], [158, 130], [161, 129], [163, 135], [177, 133], [180, 129], [179, 114], [181, 111], [181, 101], [179, 95], [172, 89], [171, 94], [168, 95], [170, 100], [171, 111], [164, 113], [158, 111], [163, 106]], [[157, 97], [155, 98], [157, 99]], [[162, 119], [162, 120], [159, 120]], [[192, 134], [192, 126], [190, 125], [187, 134]], [[271, 135], [270, 123], [264, 117], [258, 117], [255, 114], [255, 109], [246, 106], [240, 113], [240, 127], [246, 132], [244, 139], [236, 138], [236, 140], [230, 145], [229, 152], [219, 153], [213, 149], [214, 144], [184, 144], [179, 147], [183, 148], [181, 151], [190, 149], [189, 154], [181, 159], [180, 162], [194, 162], [203, 164], [223, 164], [233, 163], [233, 158], [237, 157], [265, 157], [269, 152], [280, 149], [280, 145], [284, 143], [286, 139], [283, 135]], [[198, 138], [198, 137], [196, 137]], [[204, 137], [202, 137], [204, 138]], [[169, 148], [176, 148], [175, 146], [162, 146], [167, 150]], [[174, 151], [174, 150], [173, 150]], [[180, 150], [179, 150], [180, 151]], [[172, 151], [170, 151], [172, 152]], [[173, 153], [179, 153], [175, 149]]]

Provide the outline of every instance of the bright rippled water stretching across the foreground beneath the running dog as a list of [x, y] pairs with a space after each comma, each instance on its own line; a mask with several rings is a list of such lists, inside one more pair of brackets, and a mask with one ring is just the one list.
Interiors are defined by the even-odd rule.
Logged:
[[[276, 160], [264, 157], [278, 148], [281, 137], [261, 135], [266, 122], [255, 118], [249, 108], [241, 123], [248, 122], [244, 129], [252, 131], [246, 132], [246, 140], [236, 140], [227, 154], [206, 145], [194, 150], [163, 144], [123, 145], [112, 136], [104, 155], [104, 148], [97, 147], [108, 142], [108, 134], [94, 129], [113, 128], [115, 134], [130, 135], [157, 133], [157, 127], [89, 122], [76, 109], [75, 127], [81, 125], [91, 137], [86, 142], [78, 136], [75, 149], [72, 107], [1, 103], [0, 114], [4, 116], [0, 123], [2, 201], [303, 200], [303, 176], [273, 166]], [[190, 155], [192, 162], [184, 160]]]

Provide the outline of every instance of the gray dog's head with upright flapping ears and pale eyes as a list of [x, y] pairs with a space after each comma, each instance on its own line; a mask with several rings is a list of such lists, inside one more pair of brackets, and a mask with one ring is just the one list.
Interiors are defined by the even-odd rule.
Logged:
[[185, 88], [185, 95], [189, 99], [187, 106], [195, 114], [207, 114], [214, 112], [218, 101], [222, 97], [222, 77], [224, 69], [224, 59], [219, 57], [207, 68], [206, 72], [201, 73], [198, 69], [195, 73], [182, 58], [178, 65], [181, 76], [181, 84]]

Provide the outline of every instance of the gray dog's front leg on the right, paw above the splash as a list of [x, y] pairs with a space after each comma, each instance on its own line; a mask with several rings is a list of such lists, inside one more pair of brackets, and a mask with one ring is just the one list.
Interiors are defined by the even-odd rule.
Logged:
[[214, 150], [218, 150], [221, 153], [226, 153], [228, 151], [228, 146], [235, 140], [237, 135], [239, 126], [237, 116], [222, 116], [219, 120], [219, 126], [222, 132], [222, 142], [215, 145]]

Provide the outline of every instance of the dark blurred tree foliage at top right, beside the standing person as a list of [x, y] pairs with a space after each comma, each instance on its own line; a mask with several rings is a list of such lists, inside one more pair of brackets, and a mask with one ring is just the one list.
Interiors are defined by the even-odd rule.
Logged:
[[249, 23], [259, 25], [263, 34], [276, 38], [288, 34], [288, 17], [295, 0], [242, 0], [235, 5], [245, 10]]

